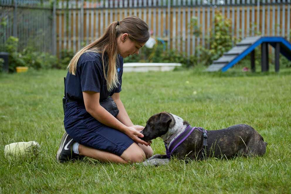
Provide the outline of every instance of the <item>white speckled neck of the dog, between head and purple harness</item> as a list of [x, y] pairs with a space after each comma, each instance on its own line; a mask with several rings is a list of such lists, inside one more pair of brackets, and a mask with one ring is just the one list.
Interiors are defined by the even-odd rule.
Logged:
[[[181, 129], [181, 130], [180, 130], [180, 131], [175, 135], [175, 137], [170, 141], [169, 145], [172, 143], [172, 141], [174, 141], [174, 140], [176, 139], [177, 136], [179, 136], [181, 133], [183, 133], [183, 132], [185, 131], [186, 127], [187, 127], [187, 125], [183, 125], [184, 120], [183, 120], [182, 118], [176, 116], [175, 114], [171, 114], [171, 115], [172, 115], [172, 116], [174, 117], [174, 119], [175, 119], [175, 122], [172, 121], [172, 122], [175, 123], [175, 125], [172, 126], [172, 127], [169, 127], [167, 133], [165, 133], [164, 135], [162, 135], [162, 136], [160, 136], [160, 137], [163, 139], [163, 141], [166, 141], [167, 139], [170, 138], [170, 136], [171, 136], [172, 134], [177, 133], [177, 131], [179, 131], [180, 129]], [[171, 124], [170, 124], [170, 126], [171, 126]]]

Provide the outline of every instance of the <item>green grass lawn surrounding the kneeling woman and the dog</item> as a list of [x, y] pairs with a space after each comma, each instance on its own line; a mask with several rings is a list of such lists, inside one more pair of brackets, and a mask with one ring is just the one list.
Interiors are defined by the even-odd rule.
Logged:
[[[0, 75], [0, 193], [291, 193], [291, 70], [280, 73], [124, 73], [121, 100], [134, 124], [167, 111], [208, 130], [253, 126], [268, 142], [262, 157], [173, 160], [169, 165], [60, 164], [65, 70]], [[9, 161], [4, 145], [41, 144], [33, 161]], [[165, 153], [153, 140], [154, 153]]]

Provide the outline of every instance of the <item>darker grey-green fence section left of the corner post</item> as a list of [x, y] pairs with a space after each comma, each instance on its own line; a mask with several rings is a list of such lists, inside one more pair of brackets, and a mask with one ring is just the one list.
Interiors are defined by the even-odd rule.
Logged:
[[18, 50], [33, 46], [53, 53], [52, 9], [49, 1], [0, 0], [0, 44], [18, 37]]

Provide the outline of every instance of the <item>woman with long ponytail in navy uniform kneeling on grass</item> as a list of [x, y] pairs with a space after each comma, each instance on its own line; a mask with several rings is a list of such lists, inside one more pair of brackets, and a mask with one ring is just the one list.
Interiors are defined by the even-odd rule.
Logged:
[[[133, 125], [119, 96], [123, 58], [138, 54], [149, 37], [148, 25], [129, 16], [111, 23], [101, 38], [72, 58], [65, 83], [66, 133], [57, 151], [57, 161], [87, 156], [129, 163], [142, 162], [153, 155], [150, 142], [138, 138], [143, 137], [140, 131], [144, 127]], [[105, 109], [103, 102], [109, 102], [113, 110]]]

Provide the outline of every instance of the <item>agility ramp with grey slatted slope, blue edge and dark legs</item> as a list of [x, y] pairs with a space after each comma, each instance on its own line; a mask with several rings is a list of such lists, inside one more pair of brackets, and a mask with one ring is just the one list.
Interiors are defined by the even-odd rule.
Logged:
[[275, 48], [275, 71], [279, 71], [279, 54], [291, 61], [291, 44], [283, 37], [252, 36], [243, 39], [235, 47], [214, 60], [206, 71], [227, 71], [249, 53], [251, 54], [251, 69], [255, 71], [255, 48], [261, 45], [262, 72], [269, 70], [268, 44]]

